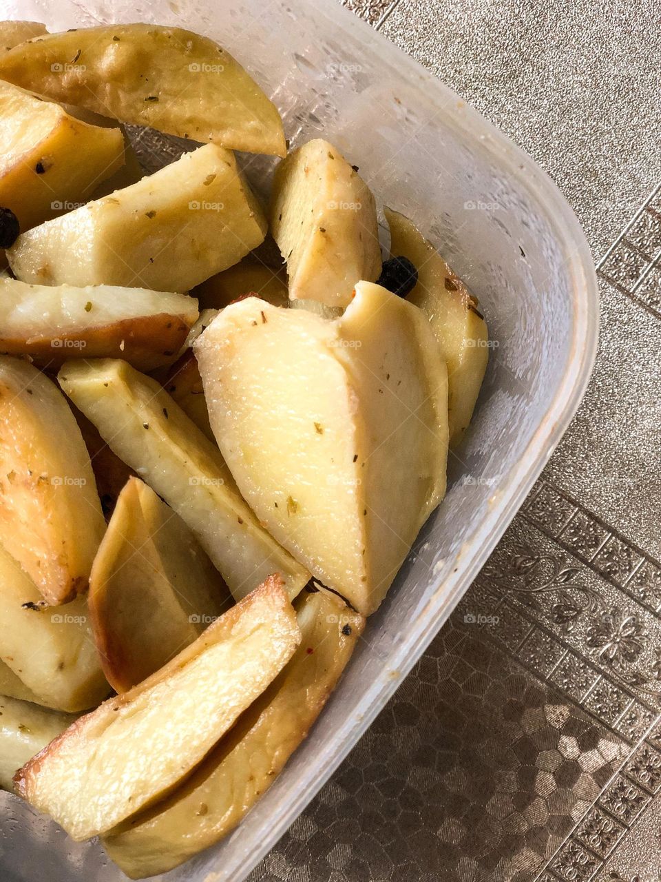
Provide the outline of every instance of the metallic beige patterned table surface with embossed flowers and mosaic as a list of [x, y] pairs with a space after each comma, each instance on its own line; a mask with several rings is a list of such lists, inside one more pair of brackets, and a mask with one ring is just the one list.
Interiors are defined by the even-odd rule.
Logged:
[[658, 4], [345, 4], [558, 183], [598, 265], [601, 340], [472, 589], [250, 880], [659, 882]]

